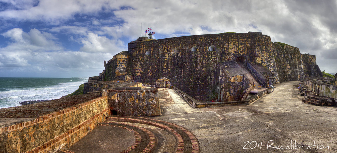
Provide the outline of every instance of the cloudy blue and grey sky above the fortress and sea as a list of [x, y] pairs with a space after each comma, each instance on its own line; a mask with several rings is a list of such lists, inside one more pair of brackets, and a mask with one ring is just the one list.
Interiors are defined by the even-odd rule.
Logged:
[[337, 0], [0, 0], [0, 77], [90, 77], [155, 39], [262, 32], [337, 73]]

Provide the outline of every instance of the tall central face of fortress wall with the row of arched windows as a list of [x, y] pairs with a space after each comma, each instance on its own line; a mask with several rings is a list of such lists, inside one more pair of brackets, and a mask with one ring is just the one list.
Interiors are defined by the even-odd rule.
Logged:
[[[192, 51], [193, 46], [197, 47], [196, 51]], [[147, 51], [149, 55], [146, 55]], [[130, 72], [139, 76], [140, 81], [153, 83], [159, 77], [166, 77], [197, 100], [210, 100], [219, 87], [219, 62], [235, 61], [243, 56], [276, 73], [270, 37], [255, 33], [196, 35], [137, 42], [129, 52]]]

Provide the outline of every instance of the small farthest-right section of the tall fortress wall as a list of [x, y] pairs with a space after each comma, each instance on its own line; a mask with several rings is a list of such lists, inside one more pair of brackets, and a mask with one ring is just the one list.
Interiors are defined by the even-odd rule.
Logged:
[[316, 65], [316, 55], [301, 54], [305, 77], [323, 77], [322, 72]]

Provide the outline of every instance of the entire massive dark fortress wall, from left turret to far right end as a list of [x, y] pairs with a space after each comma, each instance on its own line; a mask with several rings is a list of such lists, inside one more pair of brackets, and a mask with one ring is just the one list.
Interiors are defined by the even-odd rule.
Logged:
[[[249, 63], [269, 70], [273, 75], [258, 76], [262, 73], [257, 71], [254, 75], [265, 79], [273, 78], [265, 81], [271, 85], [303, 80], [305, 74], [319, 75], [316, 73], [319, 68], [314, 56], [309, 58], [308, 55], [301, 54], [297, 47], [273, 43], [269, 36], [259, 32], [194, 35], [159, 40], [140, 37], [128, 44], [127, 52], [123, 51], [115, 56], [106, 63], [99, 80], [118, 80], [120, 76], [124, 76], [136, 82], [155, 84], [158, 78], [166, 77], [171, 80], [171, 84], [200, 101], [218, 97], [221, 87], [220, 64], [236, 61], [238, 58], [244, 58]], [[245, 90], [242, 86], [238, 88]], [[238, 89], [233, 92], [235, 90]]]

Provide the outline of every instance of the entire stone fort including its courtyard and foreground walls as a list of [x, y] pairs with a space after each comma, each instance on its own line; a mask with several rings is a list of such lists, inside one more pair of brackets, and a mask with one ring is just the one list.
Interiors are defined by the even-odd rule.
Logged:
[[260, 32], [140, 37], [103, 64], [85, 94], [0, 109], [0, 153], [337, 151], [337, 74]]

